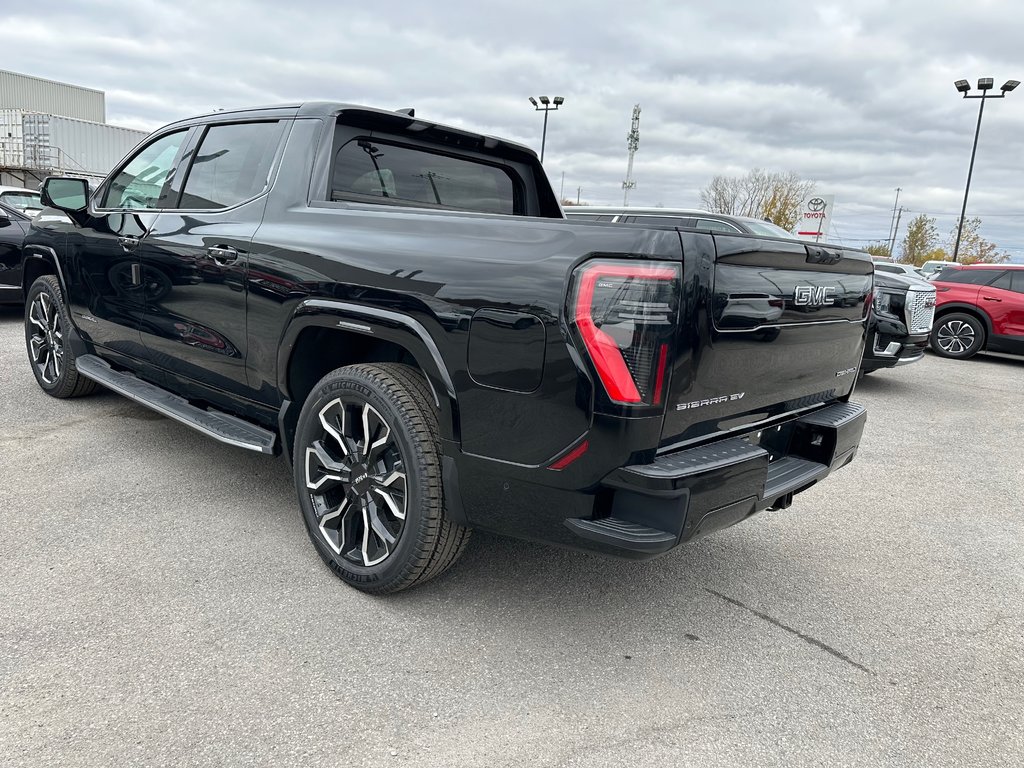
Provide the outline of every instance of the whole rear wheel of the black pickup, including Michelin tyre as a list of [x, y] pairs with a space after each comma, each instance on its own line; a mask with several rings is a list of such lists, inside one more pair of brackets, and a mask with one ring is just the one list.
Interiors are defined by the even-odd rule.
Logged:
[[408, 589], [465, 549], [469, 530], [444, 516], [429, 390], [408, 366], [349, 366], [324, 377], [299, 416], [294, 467], [309, 537], [353, 587]]

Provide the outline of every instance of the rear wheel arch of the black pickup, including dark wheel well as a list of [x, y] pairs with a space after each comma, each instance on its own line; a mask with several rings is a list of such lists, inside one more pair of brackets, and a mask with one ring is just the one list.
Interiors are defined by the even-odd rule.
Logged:
[[[325, 344], [332, 347], [329, 354], [323, 352]], [[302, 403], [317, 381], [342, 366], [385, 361], [404, 362], [423, 374], [437, 408], [441, 437], [458, 442], [455, 384], [422, 324], [387, 309], [307, 299], [278, 346], [278, 388], [285, 397], [279, 428], [286, 455], [290, 457]]]

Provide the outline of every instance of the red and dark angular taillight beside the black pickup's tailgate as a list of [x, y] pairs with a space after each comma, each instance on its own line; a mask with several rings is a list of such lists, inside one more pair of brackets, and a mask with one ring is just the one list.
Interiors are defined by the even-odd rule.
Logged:
[[608, 397], [660, 404], [679, 305], [679, 267], [591, 262], [575, 274], [573, 324]]

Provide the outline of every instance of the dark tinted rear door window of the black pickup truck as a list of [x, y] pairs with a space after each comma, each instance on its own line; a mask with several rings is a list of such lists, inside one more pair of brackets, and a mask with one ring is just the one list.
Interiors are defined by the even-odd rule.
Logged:
[[188, 169], [178, 208], [228, 208], [263, 193], [283, 125], [234, 123], [206, 129]]

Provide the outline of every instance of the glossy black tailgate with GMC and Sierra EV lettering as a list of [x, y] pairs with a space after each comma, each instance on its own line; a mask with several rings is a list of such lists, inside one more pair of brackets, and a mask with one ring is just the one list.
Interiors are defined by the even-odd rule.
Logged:
[[744, 236], [716, 234], [715, 246], [710, 274], [684, 289], [663, 446], [826, 402], [856, 382], [866, 254]]

